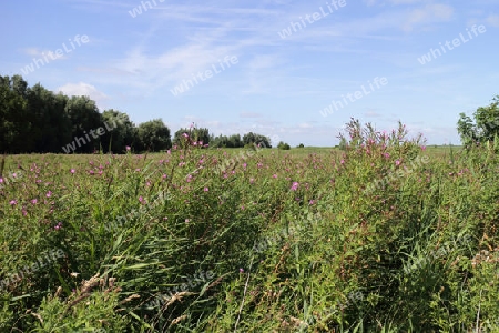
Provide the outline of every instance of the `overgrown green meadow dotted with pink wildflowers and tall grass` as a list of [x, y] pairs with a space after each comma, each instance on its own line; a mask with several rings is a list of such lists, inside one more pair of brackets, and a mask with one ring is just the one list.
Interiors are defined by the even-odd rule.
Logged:
[[0, 331], [499, 332], [498, 154], [347, 129], [4, 157]]

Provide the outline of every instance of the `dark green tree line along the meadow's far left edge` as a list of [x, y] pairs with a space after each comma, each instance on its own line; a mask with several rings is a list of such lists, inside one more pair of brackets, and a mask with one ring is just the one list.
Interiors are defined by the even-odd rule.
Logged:
[[171, 135], [163, 120], [135, 125], [124, 112], [102, 113], [89, 97], [54, 93], [40, 83], [29, 87], [21, 75], [0, 75], [0, 153], [122, 153], [162, 151], [173, 144], [203, 148], [271, 148], [268, 137], [246, 133], [213, 135], [208, 129], [182, 128]]

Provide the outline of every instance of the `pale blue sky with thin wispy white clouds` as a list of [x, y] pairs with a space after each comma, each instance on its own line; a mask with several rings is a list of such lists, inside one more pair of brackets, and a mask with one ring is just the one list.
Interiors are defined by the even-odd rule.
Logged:
[[428, 144], [499, 94], [497, 0], [3, 1], [0, 74], [139, 124], [332, 147], [350, 118]]

